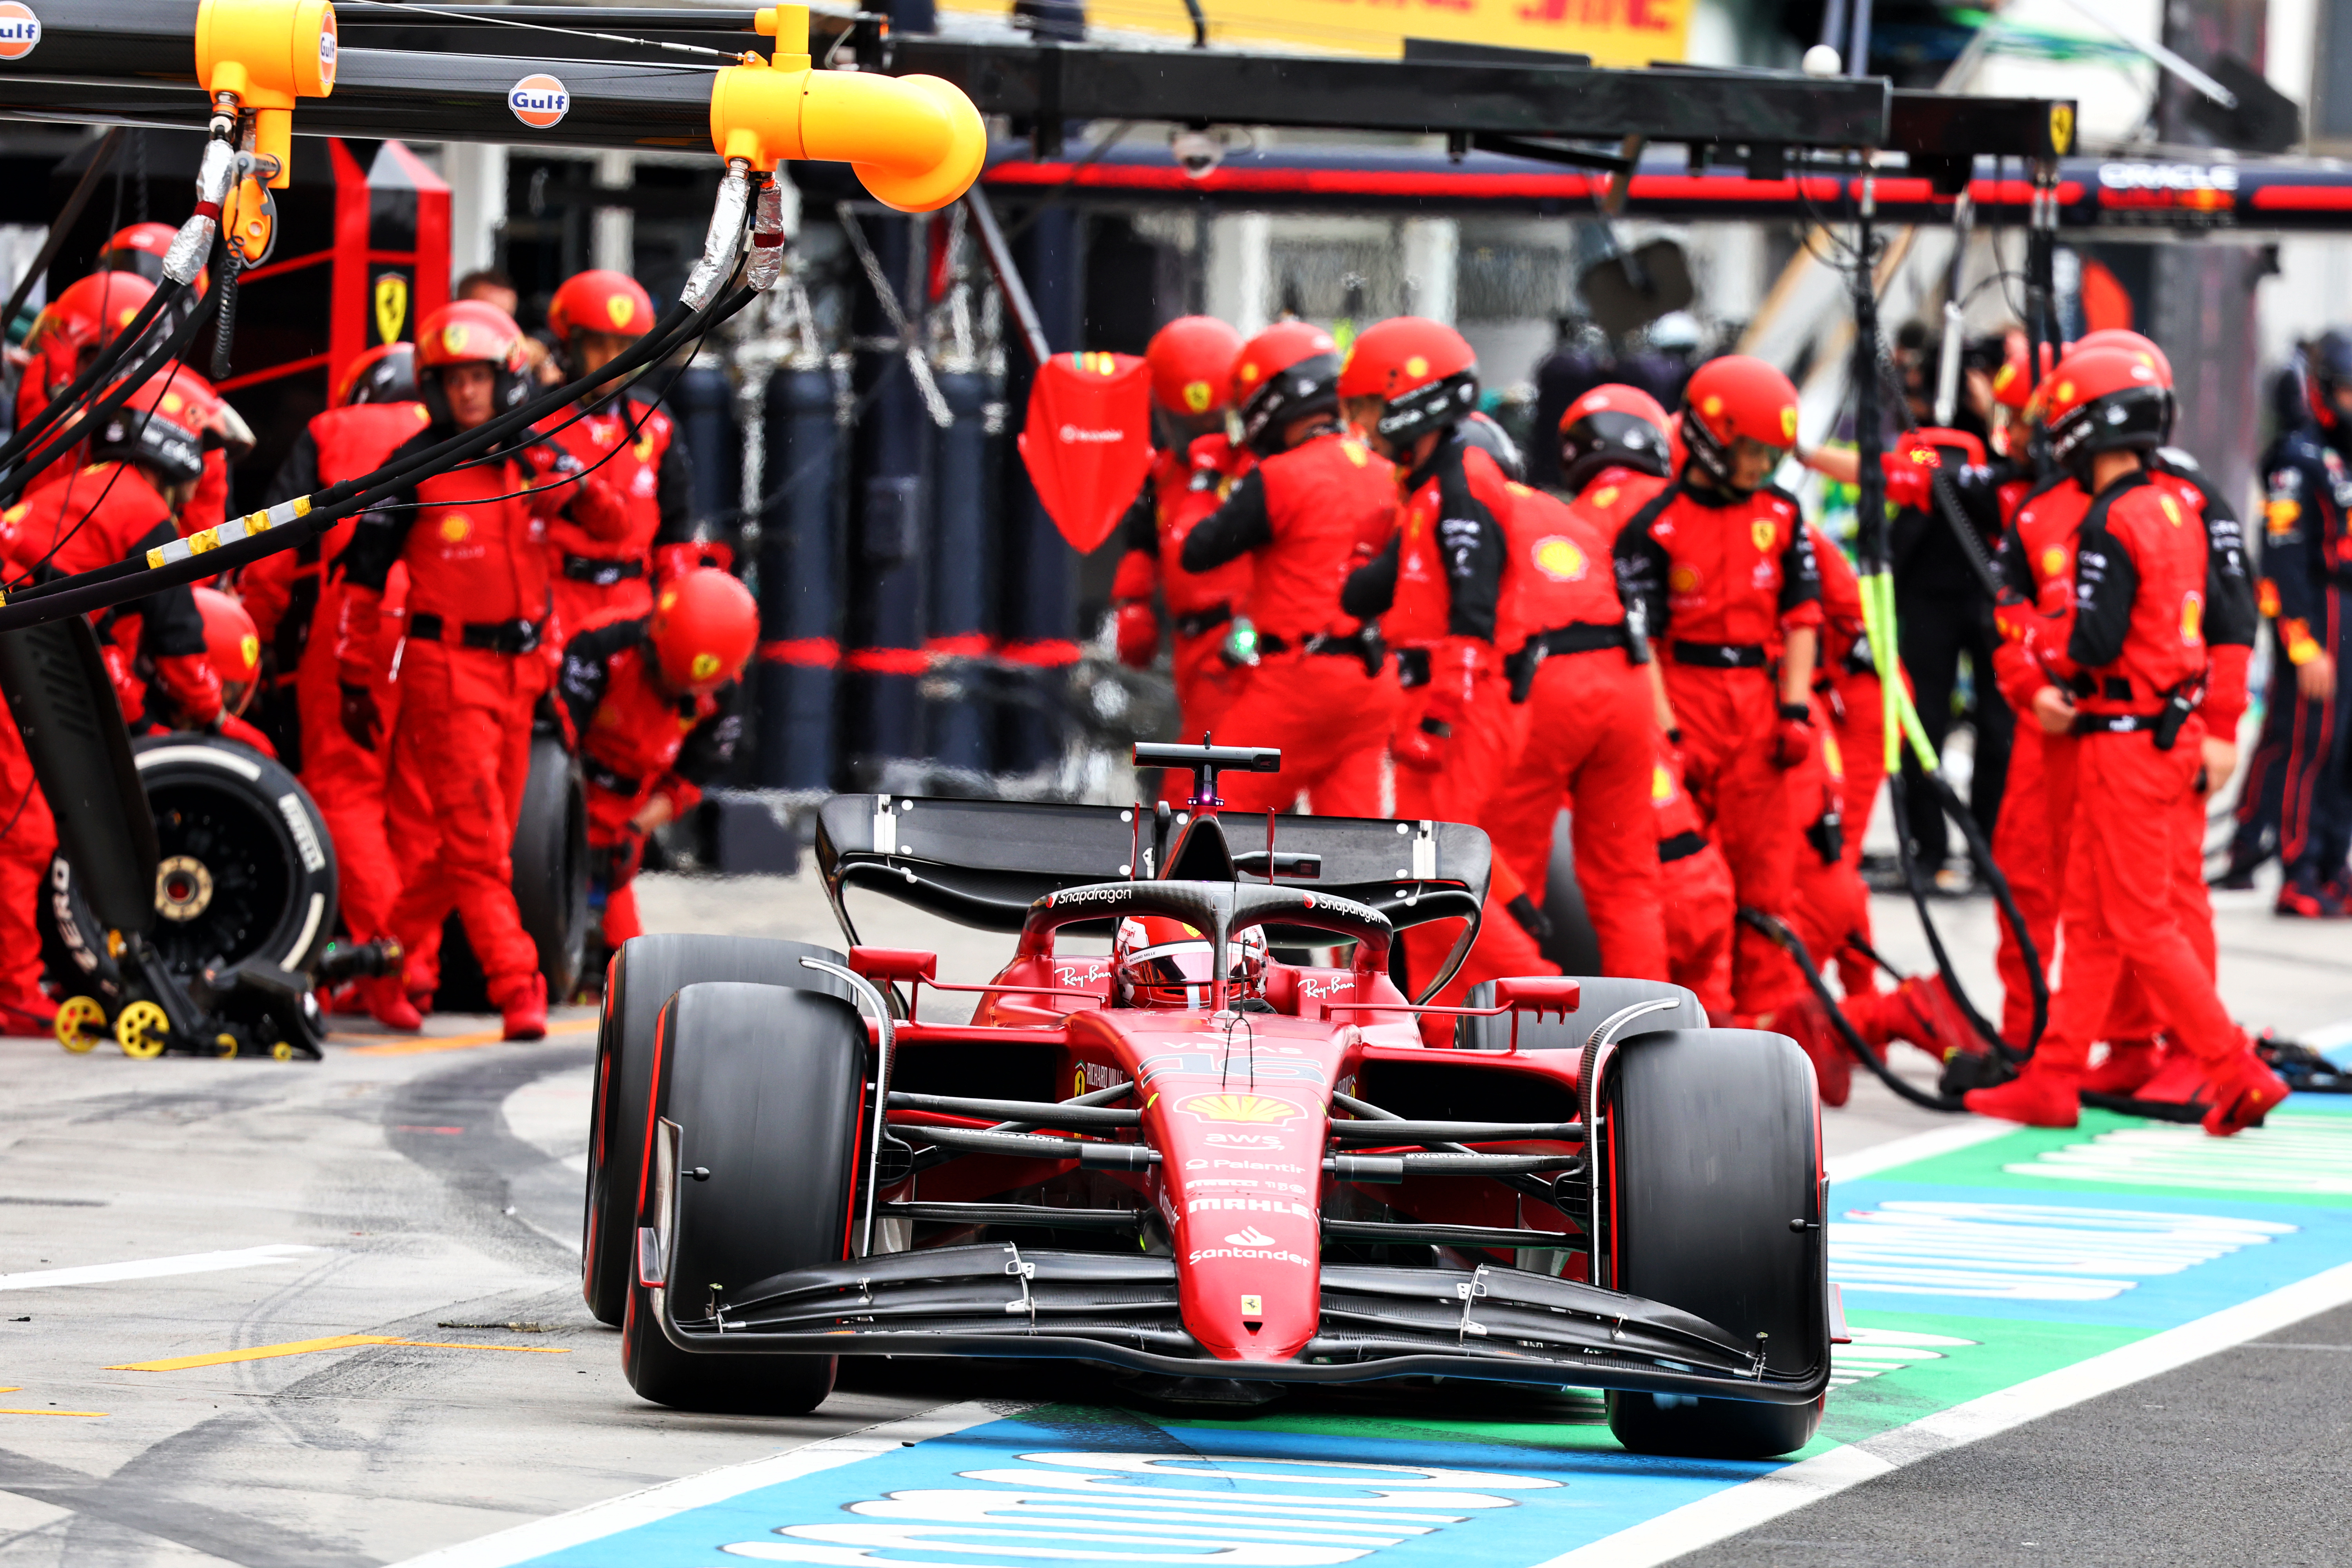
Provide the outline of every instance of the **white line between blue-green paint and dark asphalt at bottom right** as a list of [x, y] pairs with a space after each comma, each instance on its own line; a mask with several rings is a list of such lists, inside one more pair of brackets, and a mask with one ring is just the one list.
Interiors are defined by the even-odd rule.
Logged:
[[1907, 1427], [1832, 1448], [1788, 1469], [1776, 1469], [1769, 1476], [1715, 1493], [1712, 1497], [1686, 1502], [1670, 1514], [1658, 1514], [1630, 1530], [1604, 1535], [1536, 1568], [1651, 1568], [1653, 1563], [1668, 1563], [1769, 1523], [1780, 1514], [1835, 1497], [1872, 1476], [1884, 1476], [1917, 1460], [1936, 1458], [1964, 1443], [1976, 1443], [2011, 1427], [2023, 1427], [2030, 1420], [2079, 1406], [2086, 1399], [2098, 1399], [2145, 1378], [2183, 1368], [2218, 1349], [2258, 1340], [2265, 1333], [2277, 1333], [2288, 1324], [2300, 1324], [2345, 1302], [2352, 1302], [2352, 1262], [2281, 1286], [2270, 1295], [2256, 1295], [2251, 1302], [2225, 1307], [2194, 1324], [2147, 1335], [2136, 1345], [2119, 1345], [2089, 1361], [2077, 1361], [2074, 1366], [2030, 1378], [1997, 1394], [1971, 1399], [1969, 1403], [1915, 1420]]

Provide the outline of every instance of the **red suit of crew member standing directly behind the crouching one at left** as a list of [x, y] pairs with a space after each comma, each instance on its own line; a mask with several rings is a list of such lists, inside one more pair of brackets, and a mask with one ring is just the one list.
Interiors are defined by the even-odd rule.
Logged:
[[548, 522], [560, 637], [600, 611], [654, 614], [656, 555], [694, 543], [694, 473], [677, 423], [649, 397], [623, 395], [590, 411], [564, 411], [543, 440], [593, 468], [628, 515], [628, 527], [609, 536], [572, 517]]

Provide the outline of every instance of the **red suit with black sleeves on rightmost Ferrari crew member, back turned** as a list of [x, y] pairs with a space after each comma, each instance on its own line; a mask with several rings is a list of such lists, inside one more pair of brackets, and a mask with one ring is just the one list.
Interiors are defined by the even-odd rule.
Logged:
[[2211, 912], [2201, 933], [2190, 929], [2204, 889], [2183, 853], [2192, 813], [2204, 825], [2194, 705], [2211, 682], [2209, 632], [2232, 644], [2253, 635], [2244, 550], [2213, 548], [2204, 524], [2176, 482], [2133, 473], [2077, 529], [2072, 625], [2049, 663], [2079, 710], [2065, 973], [2034, 1058], [2058, 1072], [2082, 1070], [2126, 971], [2199, 1063], [2244, 1051], [2213, 990]]

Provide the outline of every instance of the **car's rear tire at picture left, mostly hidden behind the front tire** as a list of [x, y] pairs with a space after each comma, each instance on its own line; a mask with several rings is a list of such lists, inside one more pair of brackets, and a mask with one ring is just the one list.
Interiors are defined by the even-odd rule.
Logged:
[[802, 969], [800, 959], [847, 964], [830, 947], [764, 936], [640, 936], [604, 969], [604, 1011], [595, 1037], [595, 1100], [588, 1121], [588, 1204], [581, 1234], [581, 1295], [600, 1324], [628, 1312], [637, 1267], [637, 1185], [652, 1110], [654, 1030], [661, 1009], [687, 985], [750, 980], [849, 999], [847, 983]]

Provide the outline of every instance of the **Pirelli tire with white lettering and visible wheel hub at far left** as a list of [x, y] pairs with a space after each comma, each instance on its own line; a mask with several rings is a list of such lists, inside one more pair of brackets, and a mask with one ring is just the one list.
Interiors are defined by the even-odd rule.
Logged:
[[[266, 959], [308, 973], [334, 938], [334, 839], [310, 792], [275, 759], [216, 736], [132, 743], [155, 811], [155, 924], [148, 938], [183, 978]], [[64, 856], [49, 863], [49, 917], [75, 994], [120, 992], [108, 933]]]

